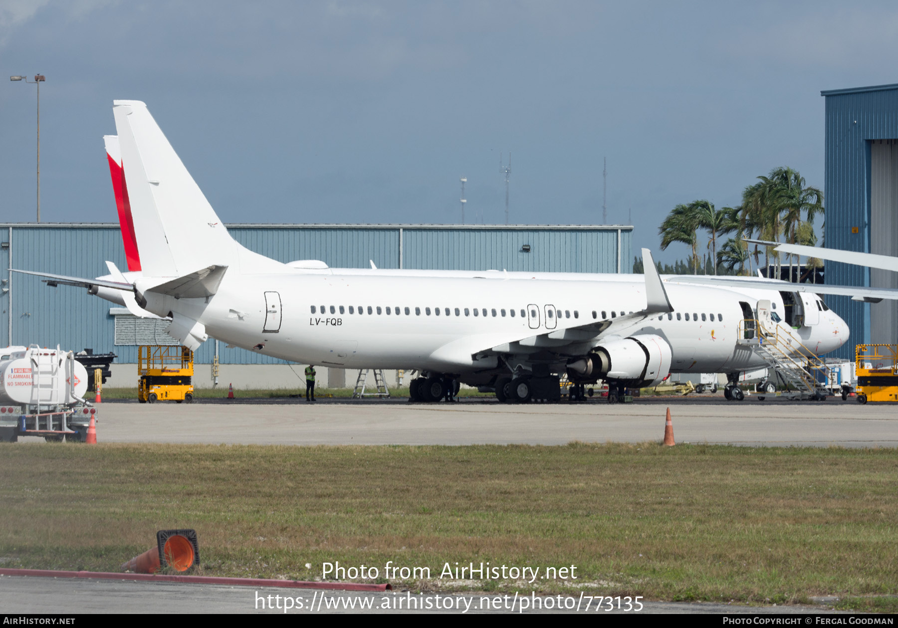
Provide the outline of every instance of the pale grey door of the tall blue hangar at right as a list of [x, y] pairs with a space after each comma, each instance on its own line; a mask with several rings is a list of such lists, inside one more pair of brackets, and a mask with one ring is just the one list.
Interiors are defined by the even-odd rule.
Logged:
[[[871, 145], [870, 252], [898, 256], [898, 139]], [[870, 286], [898, 289], [898, 272], [870, 269]], [[870, 304], [870, 341], [898, 343], [898, 301]]]

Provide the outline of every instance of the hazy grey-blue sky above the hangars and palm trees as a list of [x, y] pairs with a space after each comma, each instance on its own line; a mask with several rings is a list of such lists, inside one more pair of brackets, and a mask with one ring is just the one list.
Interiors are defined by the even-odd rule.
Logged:
[[[40, 86], [42, 222], [117, 219], [102, 136], [147, 106], [225, 223], [633, 224], [823, 189], [821, 90], [898, 83], [898, 4], [0, 0]], [[0, 222], [33, 221], [36, 90], [0, 80]], [[825, 190], [824, 190], [825, 192]]]

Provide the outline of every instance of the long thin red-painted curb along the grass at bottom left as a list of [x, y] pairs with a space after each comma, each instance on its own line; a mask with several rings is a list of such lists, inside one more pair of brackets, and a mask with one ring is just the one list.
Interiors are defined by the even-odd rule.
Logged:
[[48, 569], [0, 569], [0, 576], [38, 578], [92, 578], [98, 580], [143, 580], [150, 582], [187, 582], [189, 584], [226, 584], [234, 587], [330, 588], [340, 591], [386, 591], [387, 584], [363, 582], [304, 582], [267, 578], [217, 578], [215, 576], [166, 576], [148, 573], [113, 573], [110, 571], [53, 571]]

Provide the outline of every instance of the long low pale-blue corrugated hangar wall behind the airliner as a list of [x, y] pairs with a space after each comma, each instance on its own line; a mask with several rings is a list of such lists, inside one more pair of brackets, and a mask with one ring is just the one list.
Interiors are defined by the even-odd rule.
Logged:
[[[278, 261], [321, 260], [331, 268], [630, 272], [632, 226], [231, 225], [233, 237]], [[105, 261], [127, 268], [116, 224], [0, 225], [4, 292], [0, 341], [75, 351], [112, 351], [136, 363], [135, 344], [115, 344], [115, 304], [82, 288], [47, 287], [37, 277], [6, 269], [73, 277], [108, 273]], [[524, 252], [529, 244], [530, 252]], [[147, 322], [148, 323], [148, 322]], [[125, 338], [119, 328], [119, 341]], [[166, 337], [167, 338], [167, 337]], [[197, 351], [211, 363], [215, 342]], [[219, 347], [222, 364], [279, 364], [283, 360]]]

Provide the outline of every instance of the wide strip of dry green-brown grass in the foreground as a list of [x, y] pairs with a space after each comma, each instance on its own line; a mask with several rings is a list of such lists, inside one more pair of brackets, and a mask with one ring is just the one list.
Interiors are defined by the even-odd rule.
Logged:
[[[18, 443], [0, 445], [0, 473], [4, 567], [119, 571], [157, 529], [194, 527], [215, 575], [392, 561], [430, 567], [409, 583], [426, 590], [870, 610], [898, 593], [894, 449]], [[480, 561], [574, 564], [578, 579], [437, 578]]]

